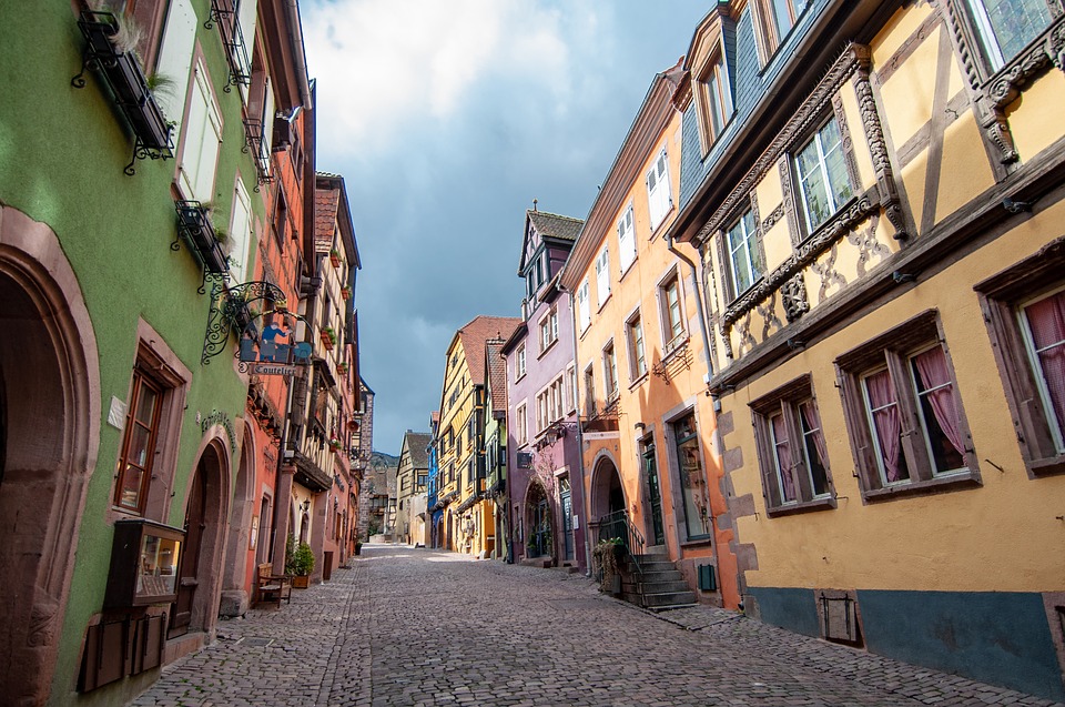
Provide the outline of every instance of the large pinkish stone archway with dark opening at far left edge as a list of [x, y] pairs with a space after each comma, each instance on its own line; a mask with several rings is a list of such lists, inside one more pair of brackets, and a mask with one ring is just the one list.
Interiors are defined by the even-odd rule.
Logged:
[[0, 695], [48, 699], [100, 438], [97, 342], [55, 234], [0, 209]]

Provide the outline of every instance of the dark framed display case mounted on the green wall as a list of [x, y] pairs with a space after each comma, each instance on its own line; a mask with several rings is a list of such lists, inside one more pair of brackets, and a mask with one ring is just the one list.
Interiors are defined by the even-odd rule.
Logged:
[[184, 539], [184, 531], [153, 521], [116, 521], [103, 607], [174, 602]]

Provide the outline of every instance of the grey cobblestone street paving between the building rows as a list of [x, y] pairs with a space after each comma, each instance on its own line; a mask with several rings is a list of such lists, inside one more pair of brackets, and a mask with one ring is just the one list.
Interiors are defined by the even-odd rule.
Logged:
[[[721, 609], [651, 614], [580, 575], [364, 545], [333, 582], [222, 622], [138, 707], [1054, 703]], [[1065, 707], [1057, 705], [1057, 707]]]

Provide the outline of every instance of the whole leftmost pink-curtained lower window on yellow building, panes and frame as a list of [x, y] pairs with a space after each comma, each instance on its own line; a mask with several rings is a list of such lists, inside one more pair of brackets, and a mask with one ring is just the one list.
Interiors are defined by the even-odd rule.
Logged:
[[751, 404], [765, 506], [774, 511], [834, 507], [821, 415], [810, 377]]

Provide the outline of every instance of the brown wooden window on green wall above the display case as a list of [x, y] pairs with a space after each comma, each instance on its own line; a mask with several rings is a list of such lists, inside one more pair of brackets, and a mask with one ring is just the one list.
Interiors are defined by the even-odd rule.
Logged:
[[131, 388], [119, 455], [114, 505], [142, 514], [155, 462], [163, 388], [140, 367], [133, 370]]

